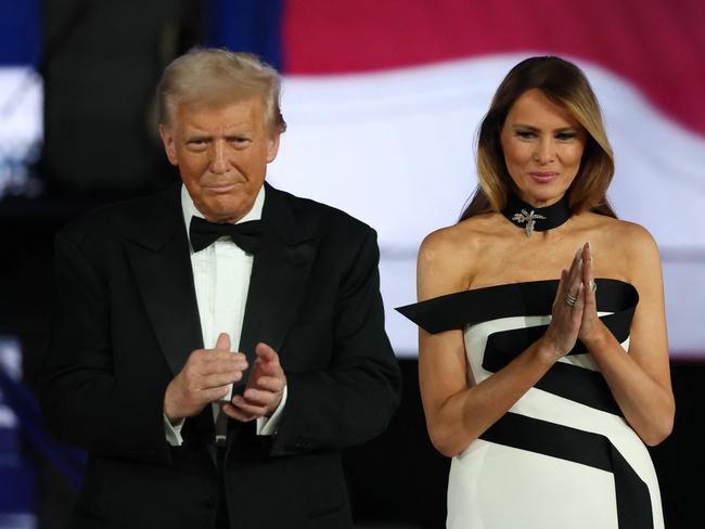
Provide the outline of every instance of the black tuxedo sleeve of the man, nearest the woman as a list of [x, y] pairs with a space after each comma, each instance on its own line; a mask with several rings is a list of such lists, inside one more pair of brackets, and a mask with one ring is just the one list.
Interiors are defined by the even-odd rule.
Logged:
[[399, 402], [399, 367], [384, 331], [376, 234], [366, 233], [342, 276], [329, 369], [286, 373], [289, 397], [273, 455], [364, 442], [386, 429]]

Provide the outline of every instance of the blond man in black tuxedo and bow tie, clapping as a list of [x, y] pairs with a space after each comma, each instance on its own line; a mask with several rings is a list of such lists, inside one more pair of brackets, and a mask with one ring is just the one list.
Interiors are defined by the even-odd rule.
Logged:
[[183, 185], [56, 237], [41, 404], [89, 453], [70, 527], [351, 527], [339, 450], [400, 392], [375, 233], [265, 182], [285, 124], [256, 57], [176, 60], [159, 109]]

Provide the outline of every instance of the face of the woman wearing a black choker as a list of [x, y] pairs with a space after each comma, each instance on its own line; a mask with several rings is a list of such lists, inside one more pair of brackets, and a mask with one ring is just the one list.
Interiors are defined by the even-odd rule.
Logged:
[[586, 141], [572, 114], [540, 90], [520, 95], [507, 115], [500, 143], [521, 198], [535, 207], [560, 201], [580, 168]]

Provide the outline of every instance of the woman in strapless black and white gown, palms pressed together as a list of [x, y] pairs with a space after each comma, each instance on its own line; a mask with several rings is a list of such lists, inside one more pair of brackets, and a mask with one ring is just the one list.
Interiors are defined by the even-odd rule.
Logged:
[[[658, 250], [606, 201], [585, 75], [533, 57], [480, 126], [479, 185], [419, 253], [420, 384], [452, 529], [663, 528], [645, 444], [675, 403]], [[577, 250], [576, 250], [577, 248]]]

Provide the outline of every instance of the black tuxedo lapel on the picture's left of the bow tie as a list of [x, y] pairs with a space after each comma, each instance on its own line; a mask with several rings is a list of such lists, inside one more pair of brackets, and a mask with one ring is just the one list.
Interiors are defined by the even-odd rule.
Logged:
[[179, 191], [176, 185], [165, 192], [151, 222], [126, 242], [144, 307], [175, 376], [191, 351], [203, 348]]

